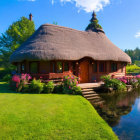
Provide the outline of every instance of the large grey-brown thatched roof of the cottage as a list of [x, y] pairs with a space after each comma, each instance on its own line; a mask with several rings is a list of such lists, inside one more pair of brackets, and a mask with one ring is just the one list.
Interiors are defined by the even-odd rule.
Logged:
[[44, 24], [10, 57], [10, 62], [24, 60], [94, 60], [131, 62], [130, 57], [116, 47], [103, 32], [85, 32]]

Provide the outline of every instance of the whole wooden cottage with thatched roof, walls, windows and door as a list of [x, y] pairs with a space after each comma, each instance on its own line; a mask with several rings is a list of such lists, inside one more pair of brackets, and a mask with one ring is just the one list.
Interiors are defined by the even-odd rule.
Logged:
[[99, 81], [106, 74], [125, 76], [131, 59], [101, 28], [78, 31], [44, 24], [11, 55], [10, 62], [18, 73], [46, 80], [72, 73], [80, 83], [87, 83]]

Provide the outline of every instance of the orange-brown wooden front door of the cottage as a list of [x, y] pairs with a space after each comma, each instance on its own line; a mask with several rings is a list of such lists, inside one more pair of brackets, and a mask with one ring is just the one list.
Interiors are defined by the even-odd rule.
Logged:
[[89, 82], [89, 62], [83, 61], [80, 63], [80, 83]]

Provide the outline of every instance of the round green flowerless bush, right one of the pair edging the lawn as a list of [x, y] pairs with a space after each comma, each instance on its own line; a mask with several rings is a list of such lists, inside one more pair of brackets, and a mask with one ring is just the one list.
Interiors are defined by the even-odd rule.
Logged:
[[54, 83], [49, 81], [47, 84], [44, 84], [43, 92], [44, 93], [52, 93], [54, 90]]

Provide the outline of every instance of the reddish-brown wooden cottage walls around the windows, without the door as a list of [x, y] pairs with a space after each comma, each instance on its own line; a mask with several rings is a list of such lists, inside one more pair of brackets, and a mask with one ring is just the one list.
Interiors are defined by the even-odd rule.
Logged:
[[[84, 60], [83, 60], [84, 61]], [[64, 62], [64, 61], [63, 61]], [[82, 62], [82, 61], [81, 61]], [[97, 72], [93, 71], [93, 64], [94, 62], [97, 62]], [[126, 75], [126, 64], [123, 62], [116, 62], [117, 63], [117, 71], [111, 72], [111, 61], [106, 61], [106, 71], [105, 72], [99, 72], [99, 63], [103, 61], [92, 61], [89, 60], [89, 82], [99, 82], [101, 81], [100, 77], [102, 75], [114, 75], [117, 77], [123, 77]], [[24, 73], [30, 73], [30, 63], [29, 61], [24, 61], [17, 63], [16, 65], [20, 65], [19, 72], [21, 73], [21, 65], [25, 64], [25, 72]], [[40, 61], [38, 63], [38, 74], [49, 74], [52, 73], [51, 71], [51, 61]], [[75, 72], [73, 69], [73, 64], [75, 63]], [[69, 62], [69, 72], [75, 73], [76, 76], [80, 78], [80, 61], [70, 61]], [[63, 75], [68, 74], [69, 72], [63, 72], [63, 73], [54, 73], [53, 78], [55, 76], [58, 78], [59, 75], [63, 77]], [[53, 74], [53, 73], [52, 73]]]

